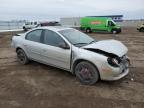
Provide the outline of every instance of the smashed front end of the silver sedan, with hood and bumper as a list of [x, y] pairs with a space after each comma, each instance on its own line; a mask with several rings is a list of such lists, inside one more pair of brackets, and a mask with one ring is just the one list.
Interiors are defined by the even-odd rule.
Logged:
[[[82, 47], [83, 49], [96, 53], [97, 60], [93, 62], [100, 71], [103, 80], [118, 80], [129, 72], [130, 60], [127, 57], [127, 47], [117, 40], [98, 41]], [[101, 57], [103, 55], [104, 57]]]

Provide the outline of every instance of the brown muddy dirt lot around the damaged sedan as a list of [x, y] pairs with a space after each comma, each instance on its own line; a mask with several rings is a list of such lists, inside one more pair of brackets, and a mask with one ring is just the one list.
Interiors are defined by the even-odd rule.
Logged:
[[144, 33], [124, 28], [117, 35], [90, 35], [117, 39], [128, 47], [128, 76], [81, 85], [66, 71], [37, 62], [19, 64], [10, 47], [11, 34], [0, 34], [0, 108], [144, 108]]

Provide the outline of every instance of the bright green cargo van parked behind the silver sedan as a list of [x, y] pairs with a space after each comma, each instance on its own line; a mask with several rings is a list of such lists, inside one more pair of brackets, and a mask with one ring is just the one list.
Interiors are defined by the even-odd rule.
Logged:
[[121, 27], [111, 18], [107, 17], [84, 17], [81, 18], [81, 30], [90, 32], [120, 33]]

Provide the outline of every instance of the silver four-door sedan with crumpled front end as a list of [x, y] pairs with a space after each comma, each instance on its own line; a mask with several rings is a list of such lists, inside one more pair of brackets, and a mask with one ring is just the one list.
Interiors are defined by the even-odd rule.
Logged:
[[129, 72], [128, 49], [117, 40], [97, 41], [88, 35], [63, 27], [35, 28], [13, 36], [18, 61], [29, 60], [67, 70], [83, 84], [118, 80]]

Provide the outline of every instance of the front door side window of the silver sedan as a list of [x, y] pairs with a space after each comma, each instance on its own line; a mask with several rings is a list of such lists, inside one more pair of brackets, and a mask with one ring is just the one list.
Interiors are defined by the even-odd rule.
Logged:
[[45, 30], [44, 44], [59, 46], [60, 43], [64, 43], [64, 40], [57, 33], [50, 30]]

